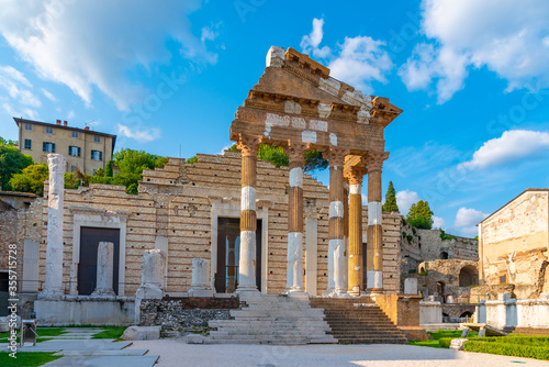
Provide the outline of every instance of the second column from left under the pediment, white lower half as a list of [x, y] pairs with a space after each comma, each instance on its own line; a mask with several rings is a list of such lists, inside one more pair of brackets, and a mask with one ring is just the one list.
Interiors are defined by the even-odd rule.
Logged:
[[288, 264], [285, 294], [305, 297], [303, 289], [303, 158], [306, 144], [284, 148], [290, 164], [288, 192]]

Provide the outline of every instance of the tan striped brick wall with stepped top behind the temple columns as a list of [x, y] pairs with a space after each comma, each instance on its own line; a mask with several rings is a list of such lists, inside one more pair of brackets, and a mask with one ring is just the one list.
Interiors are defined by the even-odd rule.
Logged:
[[[159, 237], [167, 238], [167, 291], [186, 292], [191, 285], [192, 258], [212, 258], [212, 223], [219, 208], [228, 208], [219, 216], [239, 218], [240, 155], [226, 152], [225, 156], [198, 155], [198, 162], [171, 158], [165, 168], [145, 170], [138, 194], [125, 193], [125, 188], [110, 185], [91, 185], [65, 191], [64, 211], [64, 282], [69, 282], [72, 263], [75, 207], [107, 210], [127, 215], [125, 238], [125, 294], [134, 294], [141, 283], [143, 252], [155, 248]], [[270, 163], [258, 162], [258, 213], [268, 212], [268, 274], [269, 293], [281, 293], [285, 288], [288, 246], [288, 167], [274, 168]], [[47, 192], [47, 185], [46, 190]], [[317, 294], [327, 288], [328, 248], [328, 190], [304, 175], [304, 199], [316, 208], [317, 218]], [[47, 204], [43, 205], [47, 219]], [[363, 229], [368, 224], [363, 208]], [[114, 214], [116, 215], [116, 214]], [[258, 216], [259, 218], [259, 216]], [[305, 225], [305, 224], [304, 224]], [[383, 214], [384, 283], [388, 290], [399, 288], [400, 216]], [[42, 229], [46, 237], [46, 226]], [[304, 232], [304, 259], [306, 236]], [[41, 279], [44, 278], [45, 241], [41, 242]], [[306, 268], [306, 265], [305, 265]], [[68, 289], [68, 287], [66, 287]]]

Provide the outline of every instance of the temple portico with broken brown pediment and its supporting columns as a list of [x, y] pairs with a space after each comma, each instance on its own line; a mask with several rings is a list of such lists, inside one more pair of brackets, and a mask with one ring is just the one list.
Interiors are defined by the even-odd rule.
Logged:
[[[265, 74], [238, 108], [231, 125], [231, 138], [237, 142], [243, 160], [240, 246], [244, 251], [238, 291], [256, 290], [250, 271], [256, 260], [250, 251], [256, 231], [256, 156], [259, 144], [271, 144], [282, 146], [290, 162], [285, 292], [300, 294], [304, 289], [303, 158], [307, 149], [323, 152], [329, 162], [326, 296], [344, 296], [348, 290], [354, 294], [363, 290], [383, 292], [381, 170], [389, 157], [384, 152], [383, 129], [401, 112], [385, 98], [365, 96], [329, 77], [328, 68], [306, 55], [292, 48], [269, 49]], [[369, 241], [365, 283], [361, 184], [366, 174]], [[350, 184], [350, 201], [345, 180]]]

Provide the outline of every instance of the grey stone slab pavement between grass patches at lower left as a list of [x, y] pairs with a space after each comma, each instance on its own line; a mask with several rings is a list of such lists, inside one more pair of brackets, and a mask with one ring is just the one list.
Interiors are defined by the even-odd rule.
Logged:
[[[149, 355], [148, 349], [127, 347], [132, 342], [114, 342], [114, 340], [93, 340], [94, 334], [103, 331], [97, 327], [66, 327], [67, 334], [52, 336], [53, 341], [32, 344], [20, 348], [21, 352], [56, 352], [61, 358], [44, 366], [66, 367], [152, 367], [158, 359]], [[49, 337], [49, 336], [48, 336]]]

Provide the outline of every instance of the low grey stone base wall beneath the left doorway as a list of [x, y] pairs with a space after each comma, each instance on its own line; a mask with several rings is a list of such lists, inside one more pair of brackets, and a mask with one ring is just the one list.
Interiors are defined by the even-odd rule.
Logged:
[[34, 311], [40, 325], [132, 325], [135, 301], [130, 297], [99, 299], [65, 296], [60, 301], [36, 300]]

